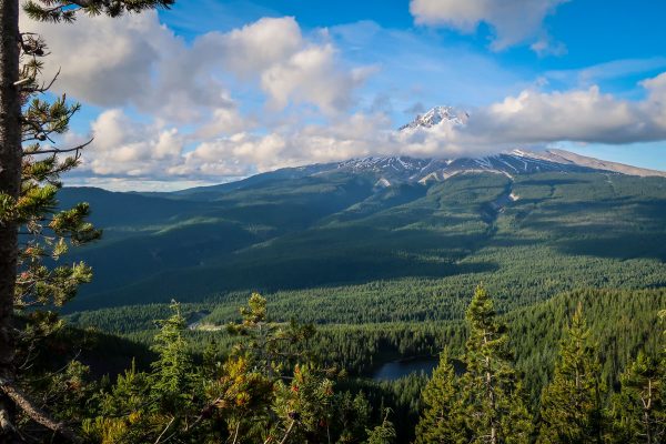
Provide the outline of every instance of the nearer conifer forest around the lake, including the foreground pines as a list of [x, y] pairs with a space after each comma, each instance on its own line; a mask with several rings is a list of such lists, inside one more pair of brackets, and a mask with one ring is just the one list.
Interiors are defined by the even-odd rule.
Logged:
[[[133, 349], [62, 329], [44, 345], [81, 352], [34, 389], [90, 442], [662, 442], [665, 302], [663, 290], [578, 291], [497, 314], [478, 286], [464, 321], [315, 329], [272, 321], [254, 294], [218, 331], [188, 329], [173, 303], [124, 335]], [[99, 379], [102, 351], [135, 357]], [[438, 359], [432, 375], [369, 377], [376, 360], [424, 354]]]

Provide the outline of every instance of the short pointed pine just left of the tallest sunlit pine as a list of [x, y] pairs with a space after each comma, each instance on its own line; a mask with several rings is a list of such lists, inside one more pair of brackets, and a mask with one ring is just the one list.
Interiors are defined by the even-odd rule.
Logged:
[[448, 357], [440, 355], [440, 365], [422, 393], [424, 412], [416, 425], [416, 444], [467, 443], [460, 384]]

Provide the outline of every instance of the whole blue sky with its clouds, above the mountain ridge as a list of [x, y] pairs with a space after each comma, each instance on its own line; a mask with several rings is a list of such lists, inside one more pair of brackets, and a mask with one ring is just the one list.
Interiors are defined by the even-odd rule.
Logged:
[[[84, 104], [65, 143], [95, 137], [74, 180], [174, 189], [511, 148], [666, 170], [664, 17], [654, 0], [190, 0], [75, 30], [22, 24], [46, 36], [60, 88]], [[87, 32], [98, 39], [82, 57], [59, 53]], [[468, 111], [468, 128], [392, 134], [442, 104]]]

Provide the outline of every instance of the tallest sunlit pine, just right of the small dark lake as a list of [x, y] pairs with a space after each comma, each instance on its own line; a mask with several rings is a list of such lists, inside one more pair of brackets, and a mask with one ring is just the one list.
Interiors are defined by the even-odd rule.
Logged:
[[470, 327], [462, 377], [467, 428], [474, 443], [528, 443], [532, 421], [513, 366], [506, 327], [477, 286], [465, 314]]

